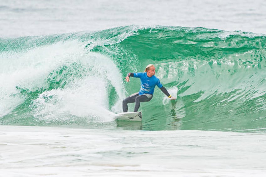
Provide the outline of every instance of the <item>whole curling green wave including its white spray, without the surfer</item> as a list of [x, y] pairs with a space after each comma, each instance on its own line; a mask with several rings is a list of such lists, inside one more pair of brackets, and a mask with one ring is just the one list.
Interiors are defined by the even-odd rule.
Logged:
[[[265, 131], [264, 35], [126, 26], [0, 39], [1, 124]], [[171, 95], [141, 103], [142, 124], [114, 121], [154, 64]], [[134, 104], [129, 105], [133, 111]]]

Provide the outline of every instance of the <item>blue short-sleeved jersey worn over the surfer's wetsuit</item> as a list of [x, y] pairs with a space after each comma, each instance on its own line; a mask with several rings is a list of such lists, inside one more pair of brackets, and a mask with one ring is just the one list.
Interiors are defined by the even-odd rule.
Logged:
[[139, 77], [141, 79], [141, 89], [139, 91], [140, 95], [143, 95], [145, 93], [153, 95], [155, 86], [162, 88], [160, 80], [155, 75], [153, 75], [152, 77], [148, 77], [146, 72], [133, 73], [133, 74], [134, 77]]

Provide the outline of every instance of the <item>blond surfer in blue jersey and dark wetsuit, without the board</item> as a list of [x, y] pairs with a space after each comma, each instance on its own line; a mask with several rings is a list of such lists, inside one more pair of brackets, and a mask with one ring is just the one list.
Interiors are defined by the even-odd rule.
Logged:
[[176, 98], [171, 96], [166, 88], [162, 86], [160, 80], [155, 76], [155, 66], [147, 65], [144, 72], [140, 73], [128, 73], [125, 77], [125, 81], [129, 82], [129, 77], [139, 77], [141, 80], [141, 89], [139, 92], [130, 95], [123, 100], [123, 112], [128, 111], [128, 103], [136, 103], [134, 112], [137, 112], [140, 107], [140, 102], [149, 102], [152, 99], [155, 86], [158, 86], [161, 91], [168, 96], [171, 100]]

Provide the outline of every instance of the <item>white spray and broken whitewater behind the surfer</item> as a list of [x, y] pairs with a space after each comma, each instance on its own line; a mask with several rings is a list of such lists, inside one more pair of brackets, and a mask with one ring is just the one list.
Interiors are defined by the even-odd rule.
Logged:
[[[24, 101], [25, 97], [16, 90], [16, 86], [34, 92], [47, 88], [49, 81], [46, 79], [49, 77], [55, 81], [65, 79], [67, 84], [59, 88], [53, 86], [54, 89], [44, 91], [33, 101], [30, 107], [37, 118], [66, 118], [72, 115], [110, 121], [113, 113], [109, 111], [108, 86], [115, 88], [118, 102], [124, 97], [120, 72], [113, 61], [104, 55], [88, 52], [83, 43], [75, 40], [40, 46], [26, 52], [1, 54], [0, 60], [5, 61], [0, 66], [0, 116]], [[81, 65], [81, 70], [73, 66], [75, 63]], [[63, 66], [68, 73], [49, 76]], [[68, 75], [67, 78], [63, 78], [64, 74]], [[116, 109], [119, 107], [112, 108], [118, 112]]]

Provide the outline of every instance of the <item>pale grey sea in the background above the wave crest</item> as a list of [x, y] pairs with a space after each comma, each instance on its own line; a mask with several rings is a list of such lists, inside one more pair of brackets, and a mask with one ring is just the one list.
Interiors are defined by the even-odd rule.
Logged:
[[0, 0], [0, 37], [95, 31], [132, 24], [266, 34], [265, 21], [263, 0]]

